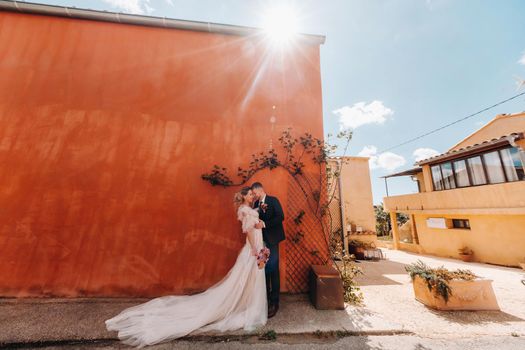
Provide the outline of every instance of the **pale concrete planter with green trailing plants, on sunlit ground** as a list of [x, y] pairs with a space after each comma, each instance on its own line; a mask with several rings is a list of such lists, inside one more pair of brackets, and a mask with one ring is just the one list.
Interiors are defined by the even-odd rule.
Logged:
[[431, 268], [422, 261], [405, 270], [420, 303], [437, 310], [499, 310], [492, 281], [469, 270]]

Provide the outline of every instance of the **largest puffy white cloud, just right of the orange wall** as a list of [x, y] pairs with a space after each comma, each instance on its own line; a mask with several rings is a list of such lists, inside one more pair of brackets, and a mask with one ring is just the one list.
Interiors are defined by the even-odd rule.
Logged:
[[381, 101], [357, 102], [352, 107], [344, 106], [333, 111], [339, 117], [341, 128], [358, 128], [365, 124], [383, 124], [394, 111]]

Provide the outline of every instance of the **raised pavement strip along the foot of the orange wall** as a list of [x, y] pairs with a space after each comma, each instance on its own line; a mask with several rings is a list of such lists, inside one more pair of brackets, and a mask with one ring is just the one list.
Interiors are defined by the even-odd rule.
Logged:
[[[115, 340], [104, 320], [124, 308], [144, 302], [124, 299], [0, 299], [0, 345], [53, 344], [71, 341]], [[314, 309], [306, 295], [283, 295], [279, 313], [253, 334], [243, 331], [198, 334], [193, 339], [255, 338], [268, 331], [279, 335], [339, 333], [345, 335], [406, 334], [398, 323], [385, 321], [363, 307]]]

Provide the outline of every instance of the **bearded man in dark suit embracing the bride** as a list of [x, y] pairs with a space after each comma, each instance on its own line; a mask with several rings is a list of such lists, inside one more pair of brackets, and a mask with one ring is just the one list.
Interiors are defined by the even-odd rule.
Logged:
[[254, 207], [259, 208], [259, 218], [264, 222], [263, 240], [270, 249], [270, 258], [265, 267], [268, 318], [270, 318], [279, 311], [279, 242], [285, 239], [284, 212], [279, 200], [267, 195], [260, 182], [255, 182], [252, 185], [252, 192], [256, 199]]

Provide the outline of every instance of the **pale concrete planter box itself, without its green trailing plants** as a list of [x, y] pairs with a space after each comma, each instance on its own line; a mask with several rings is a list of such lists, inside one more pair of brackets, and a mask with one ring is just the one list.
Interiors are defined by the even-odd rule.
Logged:
[[476, 279], [473, 281], [453, 280], [449, 283], [452, 295], [448, 302], [443, 297], [430, 291], [427, 283], [416, 276], [413, 281], [414, 294], [420, 303], [436, 310], [499, 310], [496, 295], [492, 289], [492, 280]]

